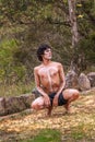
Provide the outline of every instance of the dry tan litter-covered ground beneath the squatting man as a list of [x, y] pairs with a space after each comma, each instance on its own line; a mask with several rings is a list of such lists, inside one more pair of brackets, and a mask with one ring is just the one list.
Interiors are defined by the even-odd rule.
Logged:
[[59, 129], [66, 138], [71, 130], [74, 132], [81, 128], [81, 132], [92, 131], [90, 142], [95, 142], [95, 91], [81, 94], [80, 98], [72, 104], [72, 109], [73, 114], [67, 115], [63, 107], [54, 108], [50, 118], [45, 117], [46, 110], [36, 113], [28, 110], [1, 117], [0, 142], [20, 142], [22, 139], [32, 138], [44, 128]]

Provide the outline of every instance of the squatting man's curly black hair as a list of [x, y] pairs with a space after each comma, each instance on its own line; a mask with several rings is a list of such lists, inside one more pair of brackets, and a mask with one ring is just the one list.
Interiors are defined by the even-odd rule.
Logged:
[[51, 47], [48, 46], [47, 44], [43, 44], [43, 45], [40, 45], [40, 46], [38, 47], [38, 49], [37, 49], [37, 58], [38, 58], [39, 61], [43, 61], [41, 55], [44, 55], [44, 51], [45, 51], [46, 49], [48, 49], [48, 48], [51, 49]]

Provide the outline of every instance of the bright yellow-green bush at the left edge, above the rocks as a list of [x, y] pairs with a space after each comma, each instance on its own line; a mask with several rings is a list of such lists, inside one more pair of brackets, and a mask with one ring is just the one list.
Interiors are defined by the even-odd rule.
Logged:
[[0, 83], [12, 83], [23, 80], [25, 68], [21, 63], [14, 63], [14, 51], [17, 49], [15, 39], [3, 39], [0, 44]]

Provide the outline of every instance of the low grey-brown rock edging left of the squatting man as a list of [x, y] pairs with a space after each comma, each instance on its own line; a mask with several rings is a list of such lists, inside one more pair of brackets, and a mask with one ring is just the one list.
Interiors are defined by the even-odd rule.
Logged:
[[33, 94], [0, 98], [0, 116], [9, 115], [31, 108]]

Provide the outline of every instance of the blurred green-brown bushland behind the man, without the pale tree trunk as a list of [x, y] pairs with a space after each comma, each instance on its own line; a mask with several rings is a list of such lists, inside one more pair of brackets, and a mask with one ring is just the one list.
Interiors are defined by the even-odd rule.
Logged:
[[41, 43], [52, 47], [64, 71], [82, 55], [85, 69], [95, 67], [94, 0], [78, 0], [75, 12], [80, 42], [73, 49], [67, 0], [0, 0], [0, 83], [31, 82]]

